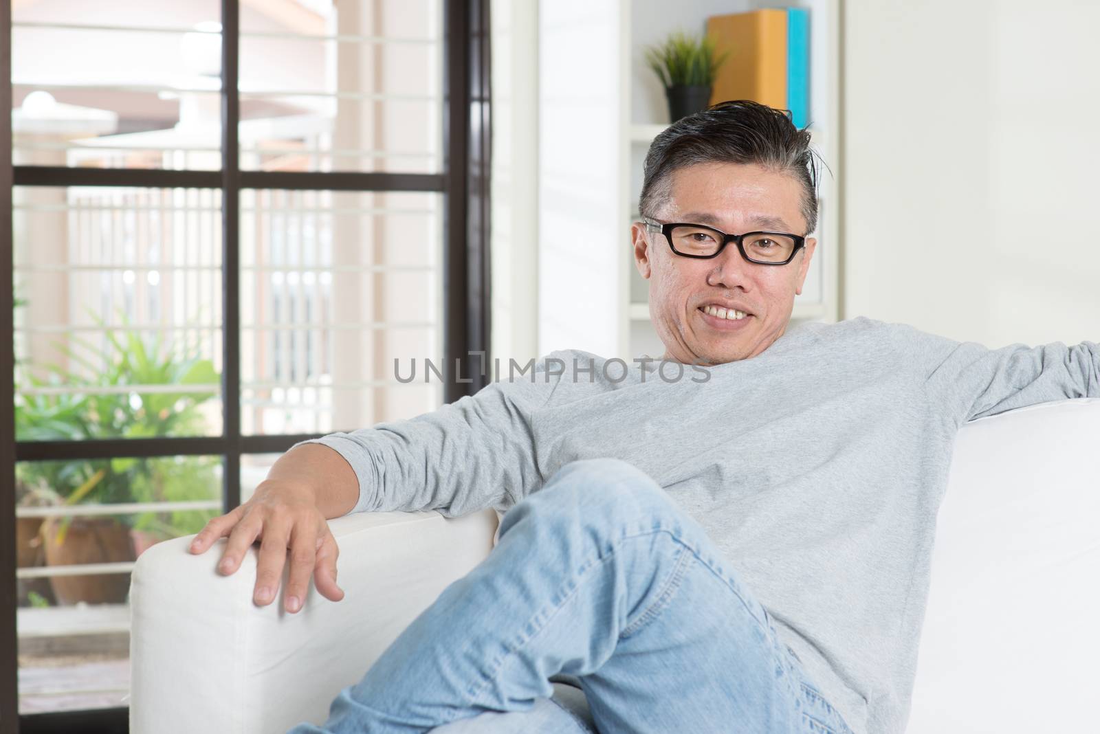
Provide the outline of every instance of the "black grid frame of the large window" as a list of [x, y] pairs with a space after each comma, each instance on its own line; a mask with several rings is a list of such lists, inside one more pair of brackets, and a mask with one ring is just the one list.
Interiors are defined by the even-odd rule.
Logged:
[[[238, 94], [240, 0], [221, 0], [221, 170], [150, 170], [12, 166], [11, 0], [0, 18], [0, 300], [12, 302], [13, 186], [123, 186], [209, 188], [222, 192], [223, 427], [220, 436], [16, 442], [14, 402], [0, 401], [0, 734], [129, 731], [125, 707], [19, 714], [15, 626], [15, 463], [111, 456], [220, 455], [223, 509], [241, 500], [241, 456], [283, 452], [306, 435], [241, 435], [240, 405], [240, 192], [241, 189], [332, 191], [432, 191], [444, 198], [443, 215], [443, 400], [473, 394], [488, 382], [490, 352], [490, 0], [441, 0], [444, 27], [443, 169], [436, 174], [288, 173], [240, 170]], [[14, 385], [13, 322], [0, 340], [0, 374]], [[346, 426], [353, 427], [353, 426]]]

